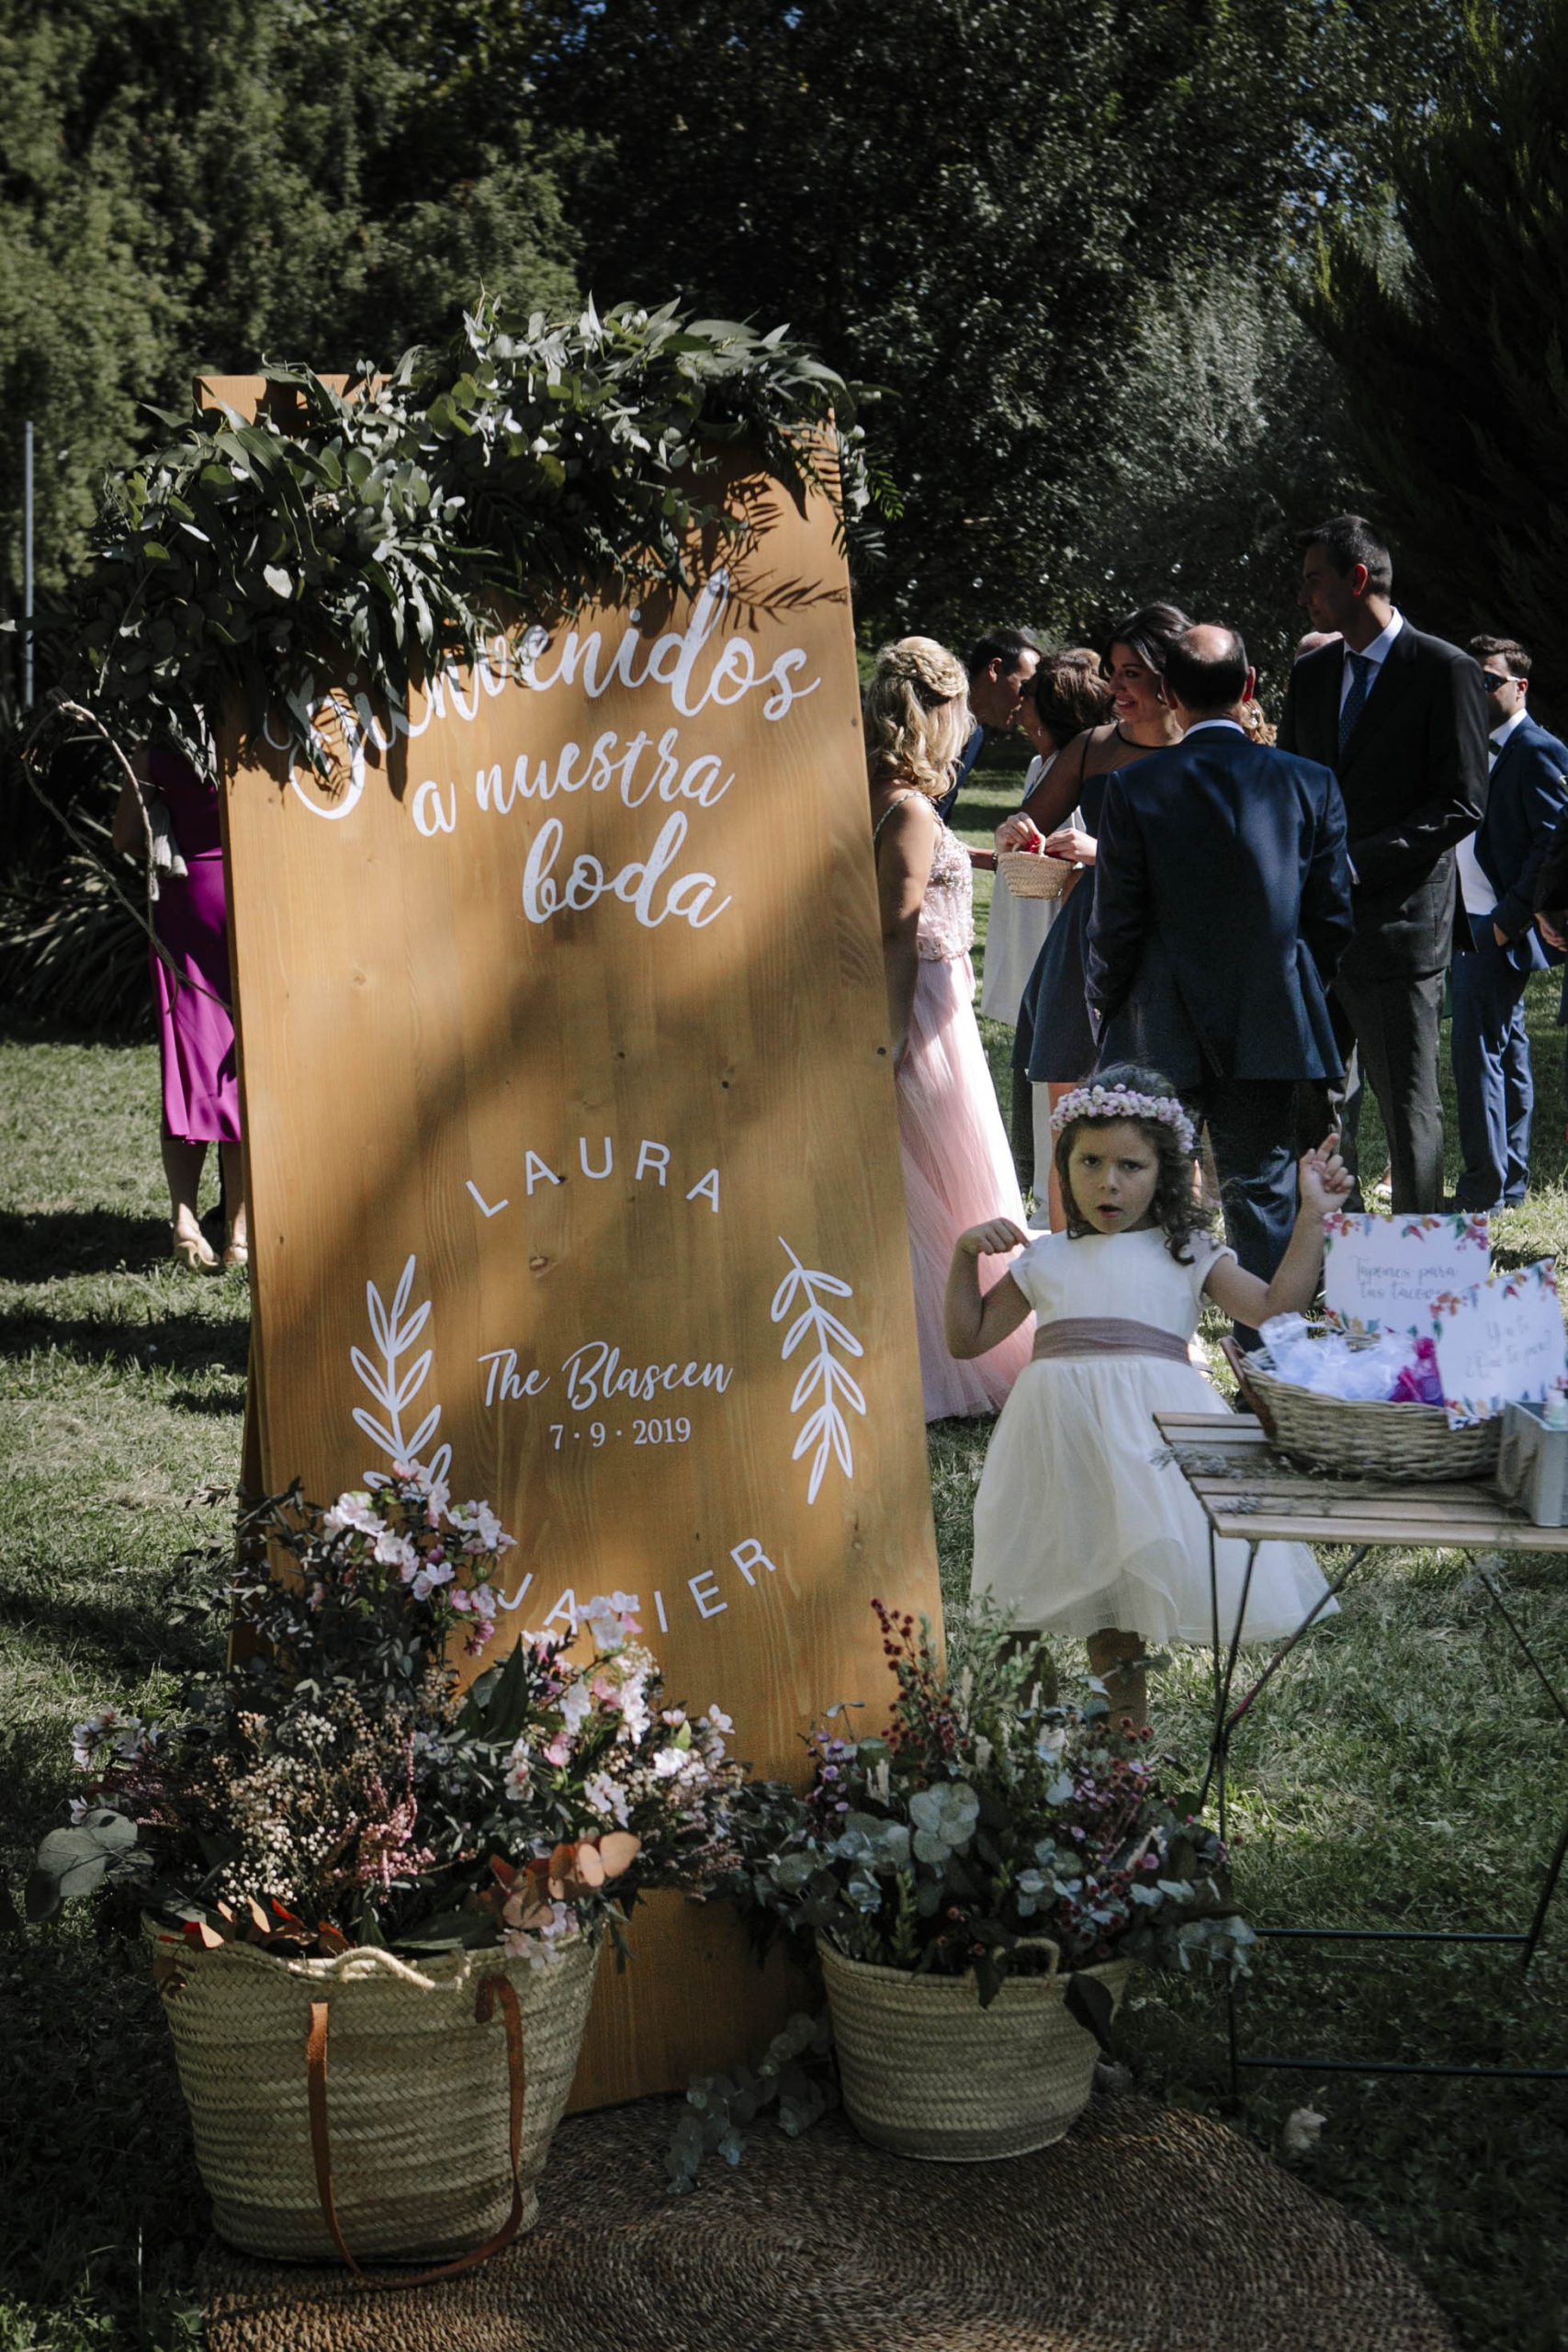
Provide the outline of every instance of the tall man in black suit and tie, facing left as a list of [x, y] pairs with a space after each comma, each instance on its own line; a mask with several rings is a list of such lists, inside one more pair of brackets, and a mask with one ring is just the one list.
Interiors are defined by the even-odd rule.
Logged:
[[1453, 849], [1486, 809], [1486, 689], [1469, 654], [1394, 609], [1389, 550], [1361, 515], [1300, 543], [1302, 604], [1342, 642], [1295, 663], [1279, 746], [1340, 779], [1356, 934], [1333, 988], [1382, 1110], [1394, 1214], [1429, 1214], [1443, 1202], [1436, 1047]]

